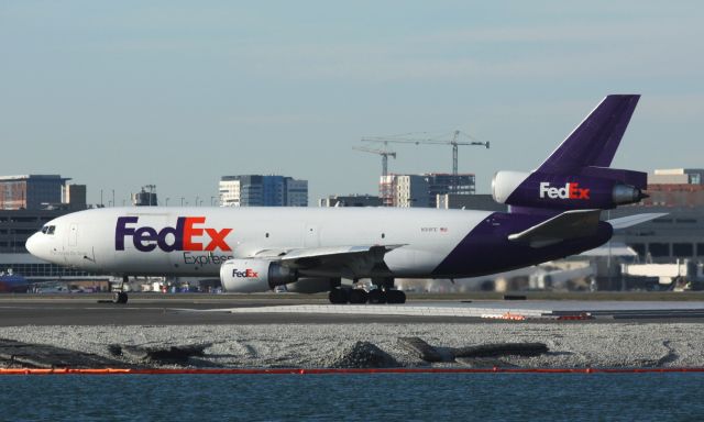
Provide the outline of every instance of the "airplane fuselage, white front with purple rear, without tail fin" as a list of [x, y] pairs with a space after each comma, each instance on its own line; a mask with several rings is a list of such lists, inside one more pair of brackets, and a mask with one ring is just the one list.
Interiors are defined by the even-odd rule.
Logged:
[[[395, 245], [385, 268], [358, 274], [343, 266], [311, 270], [324, 277], [470, 277], [538, 264], [596, 247], [596, 236], [549, 247], [512, 243], [507, 236], [542, 216], [488, 211], [389, 208], [108, 208], [47, 223], [28, 248], [52, 263], [94, 273], [218, 276], [232, 258], [277, 251], [349, 245]], [[377, 274], [374, 274], [377, 273]], [[305, 271], [304, 271], [305, 274]]]

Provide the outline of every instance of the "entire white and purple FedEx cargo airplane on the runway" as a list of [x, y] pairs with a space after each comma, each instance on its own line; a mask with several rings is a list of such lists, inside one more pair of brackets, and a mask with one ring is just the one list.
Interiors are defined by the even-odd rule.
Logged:
[[[108, 208], [67, 214], [26, 248], [51, 263], [129, 276], [220, 276], [228, 292], [330, 291], [333, 303], [403, 303], [394, 278], [506, 271], [594, 248], [602, 209], [645, 198], [646, 174], [608, 168], [639, 96], [608, 96], [531, 173], [499, 171], [510, 212], [394, 208]], [[340, 288], [371, 278], [378, 288]], [[127, 293], [116, 292], [117, 302]]]

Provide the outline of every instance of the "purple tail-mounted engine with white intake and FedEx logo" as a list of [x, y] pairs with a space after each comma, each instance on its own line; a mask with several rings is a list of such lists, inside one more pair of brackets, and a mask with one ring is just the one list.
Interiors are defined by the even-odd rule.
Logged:
[[647, 198], [646, 187], [645, 173], [584, 167], [576, 175], [498, 171], [492, 195], [495, 201], [515, 207], [606, 210]]

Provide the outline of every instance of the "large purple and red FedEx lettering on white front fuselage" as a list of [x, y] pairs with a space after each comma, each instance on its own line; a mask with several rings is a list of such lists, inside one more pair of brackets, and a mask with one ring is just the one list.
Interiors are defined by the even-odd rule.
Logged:
[[[205, 216], [179, 216], [176, 226], [166, 226], [158, 232], [154, 227], [138, 227], [139, 216], [120, 216], [114, 230], [114, 248], [124, 251], [125, 237], [132, 237], [134, 248], [151, 252], [160, 248], [173, 251], [232, 251], [226, 236], [232, 229], [211, 229], [204, 226]], [[170, 235], [170, 236], [169, 236]]]

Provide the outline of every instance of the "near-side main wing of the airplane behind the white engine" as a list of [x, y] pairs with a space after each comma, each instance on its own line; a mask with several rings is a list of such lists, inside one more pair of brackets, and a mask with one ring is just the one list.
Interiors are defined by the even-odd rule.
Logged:
[[279, 260], [282, 265], [296, 268], [306, 276], [344, 273], [355, 278], [356, 274], [369, 274], [371, 269], [386, 269], [384, 255], [404, 245], [348, 245], [290, 249], [262, 249], [253, 258]]

